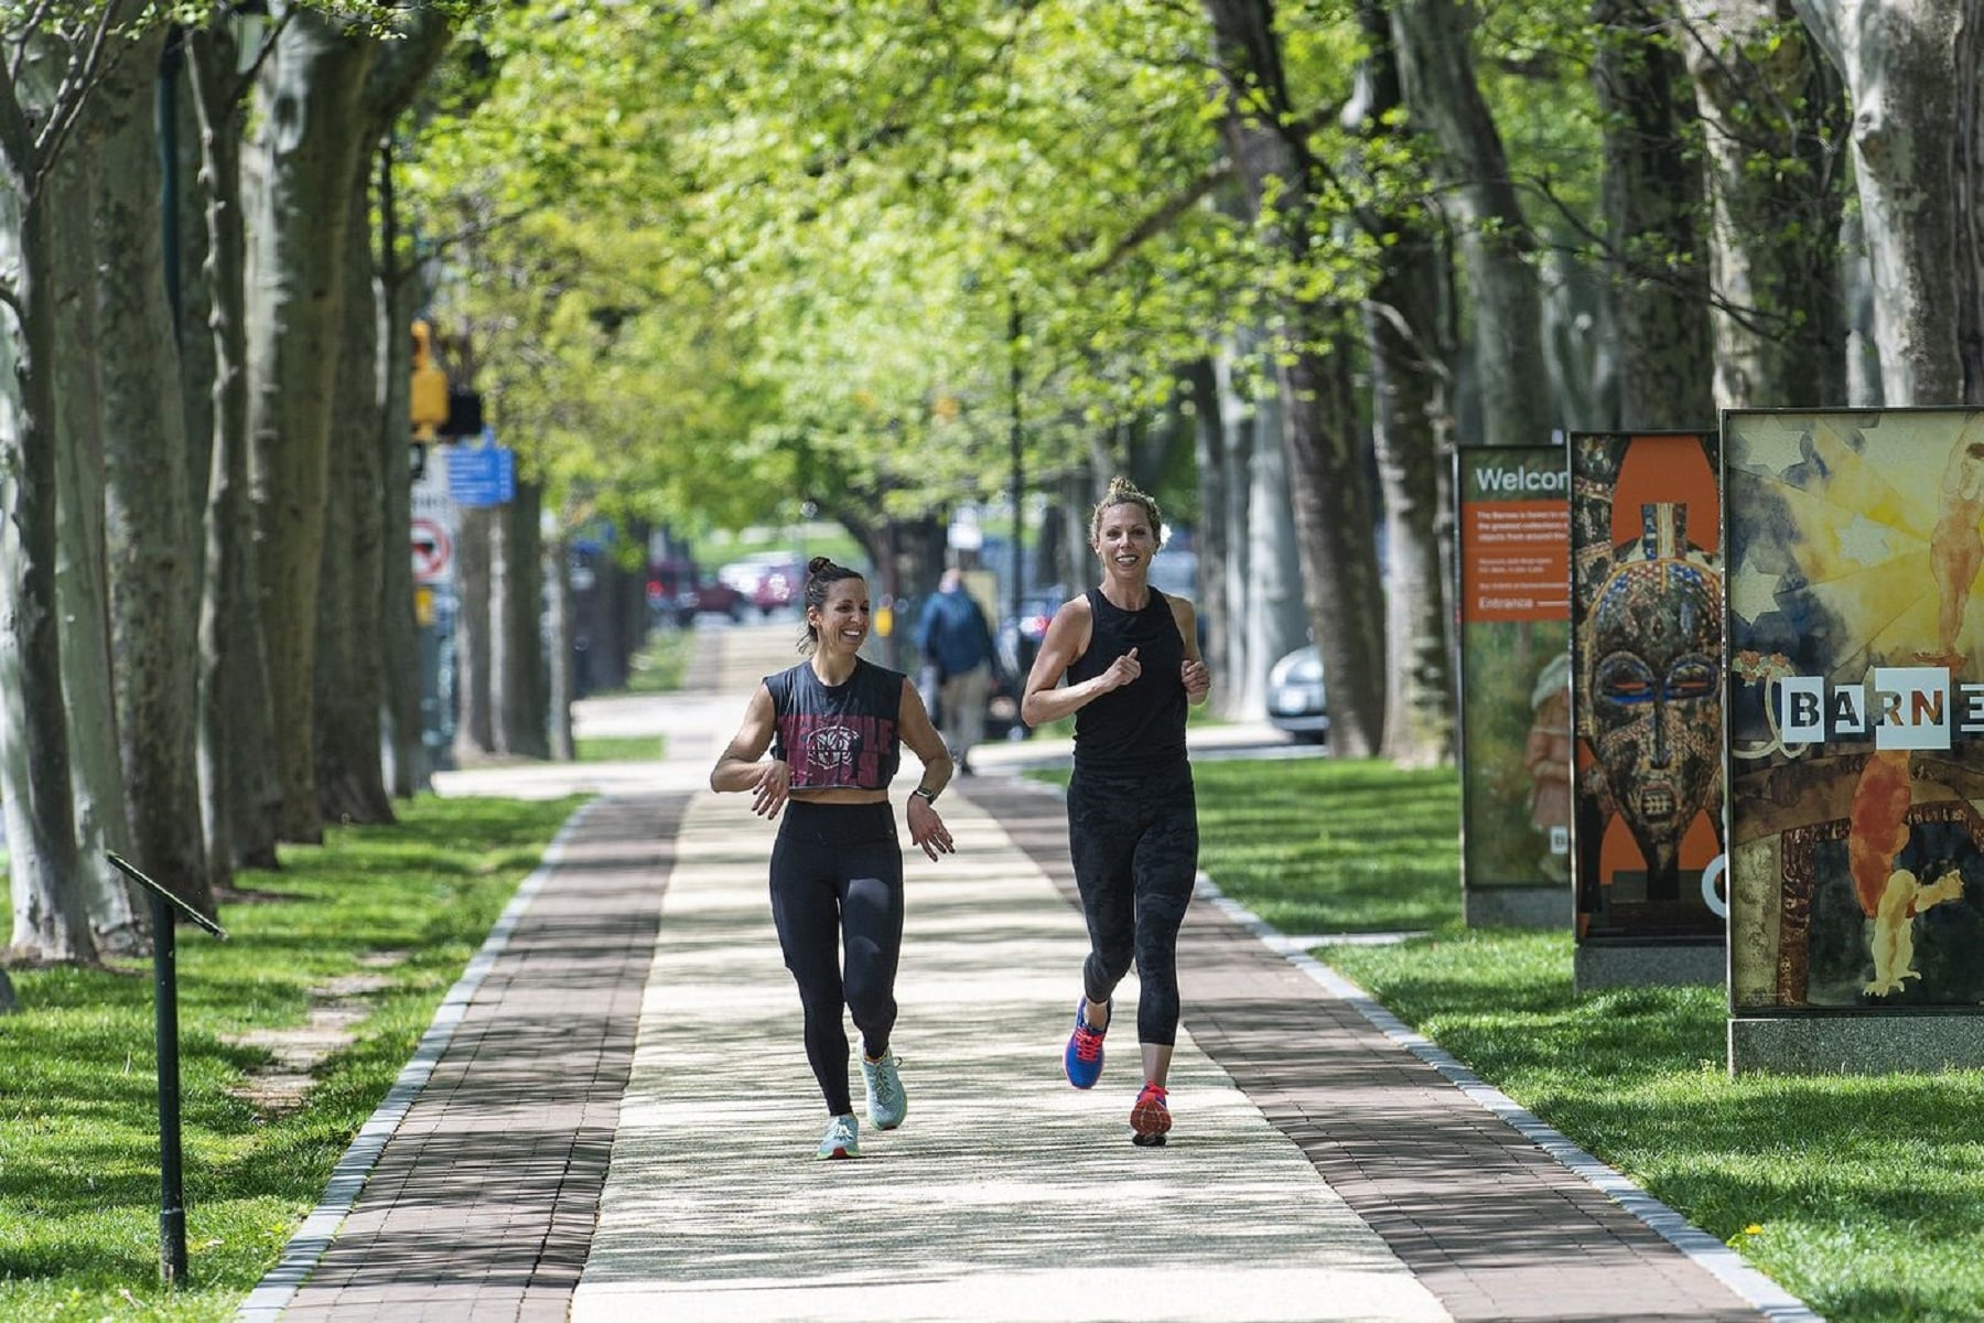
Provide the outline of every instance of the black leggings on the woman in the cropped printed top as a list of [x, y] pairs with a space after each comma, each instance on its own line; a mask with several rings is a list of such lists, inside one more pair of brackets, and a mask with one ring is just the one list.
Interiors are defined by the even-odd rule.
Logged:
[[853, 1111], [845, 1008], [867, 1055], [889, 1049], [903, 954], [903, 847], [887, 803], [792, 799], [772, 845], [772, 922], [806, 1008], [806, 1059], [827, 1115]]

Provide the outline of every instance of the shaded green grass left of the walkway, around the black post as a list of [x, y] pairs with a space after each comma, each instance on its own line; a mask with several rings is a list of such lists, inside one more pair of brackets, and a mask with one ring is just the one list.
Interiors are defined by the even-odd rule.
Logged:
[[[186, 1279], [159, 1281], [151, 960], [14, 970], [0, 1018], [0, 1319], [226, 1319], [323, 1196], [440, 998], [577, 799], [423, 797], [238, 877], [228, 940], [179, 934]], [[0, 918], [6, 918], [0, 904]], [[308, 1105], [234, 1093], [268, 1059], [228, 1039], [300, 1025], [313, 988], [369, 976], [369, 1018]]]

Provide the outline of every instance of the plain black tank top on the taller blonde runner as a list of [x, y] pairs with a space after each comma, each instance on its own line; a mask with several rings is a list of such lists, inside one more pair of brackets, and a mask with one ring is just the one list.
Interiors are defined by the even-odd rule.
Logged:
[[1141, 776], [1184, 766], [1184, 639], [1171, 601], [1155, 587], [1143, 611], [1123, 611], [1089, 593], [1089, 647], [1067, 668], [1067, 682], [1091, 680], [1137, 649], [1143, 674], [1075, 712], [1075, 768], [1103, 776]]

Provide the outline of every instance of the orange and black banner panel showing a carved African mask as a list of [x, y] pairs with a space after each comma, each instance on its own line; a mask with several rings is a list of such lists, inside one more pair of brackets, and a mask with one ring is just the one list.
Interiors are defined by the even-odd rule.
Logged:
[[1571, 450], [1571, 875], [1577, 940], [1722, 940], [1718, 438], [1583, 432]]

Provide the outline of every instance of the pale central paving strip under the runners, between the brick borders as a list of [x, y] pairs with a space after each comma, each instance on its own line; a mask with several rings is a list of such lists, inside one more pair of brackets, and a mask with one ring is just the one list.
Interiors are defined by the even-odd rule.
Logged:
[[815, 1162], [770, 829], [740, 797], [692, 803], [571, 1317], [1444, 1319], [1188, 1039], [1167, 1148], [1129, 1144], [1133, 1035], [1101, 1087], [1067, 1087], [1079, 916], [982, 809], [944, 813], [956, 857], [907, 879], [909, 1119]]

